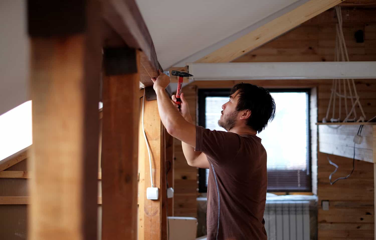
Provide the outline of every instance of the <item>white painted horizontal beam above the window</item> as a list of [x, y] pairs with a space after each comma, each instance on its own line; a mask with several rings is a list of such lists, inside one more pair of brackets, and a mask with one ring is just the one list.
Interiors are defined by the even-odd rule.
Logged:
[[376, 79], [376, 62], [188, 63], [195, 81], [252, 79]]

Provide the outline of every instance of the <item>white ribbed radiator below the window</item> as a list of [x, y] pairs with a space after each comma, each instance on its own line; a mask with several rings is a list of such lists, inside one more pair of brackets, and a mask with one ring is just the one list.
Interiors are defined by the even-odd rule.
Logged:
[[264, 219], [268, 240], [309, 240], [309, 201], [267, 201]]

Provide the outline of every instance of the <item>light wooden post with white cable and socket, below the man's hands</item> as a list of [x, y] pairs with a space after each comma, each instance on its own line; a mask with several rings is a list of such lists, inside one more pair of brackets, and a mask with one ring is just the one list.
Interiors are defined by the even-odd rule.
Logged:
[[[142, 104], [142, 99], [141, 99]], [[162, 235], [162, 169], [163, 169], [163, 125], [159, 117], [157, 101], [145, 101], [144, 128], [152, 156], [152, 173], [154, 187], [159, 188], [158, 200], [146, 199], [146, 189], [151, 187], [150, 164], [142, 127], [139, 131], [139, 226], [138, 239], [159, 240]], [[142, 110], [141, 110], [142, 111]], [[142, 140], [141, 140], [142, 138]]]

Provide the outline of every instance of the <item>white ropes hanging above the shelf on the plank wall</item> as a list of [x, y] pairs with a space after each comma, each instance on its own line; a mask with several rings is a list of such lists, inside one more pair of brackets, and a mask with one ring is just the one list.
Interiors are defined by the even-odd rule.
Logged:
[[[345, 38], [343, 35], [341, 7], [336, 6], [335, 11], [337, 14], [338, 23], [336, 24], [334, 61], [338, 61], [338, 62], [350, 61], [349, 54], [347, 52]], [[350, 85], [350, 80], [351, 80], [351, 85]], [[343, 85], [343, 94], [342, 94], [341, 82]], [[350, 96], [347, 96], [347, 90], [346, 90], [347, 87], [348, 87]], [[354, 91], [354, 95], [353, 95], [353, 91]], [[338, 97], [338, 105], [339, 105], [338, 110], [339, 111], [338, 111], [338, 118], [335, 118], [335, 108], [337, 106], [336, 105], [337, 97]], [[348, 111], [348, 107], [347, 107], [348, 99], [350, 99], [351, 104], [352, 104], [350, 111]], [[364, 122], [365, 121], [366, 117], [365, 117], [362, 105], [359, 101], [359, 95], [358, 95], [358, 92], [356, 91], [354, 79], [333, 79], [332, 88], [331, 88], [331, 96], [329, 99], [326, 116], [323, 118], [323, 122], [327, 122], [327, 119], [329, 118], [330, 108], [332, 108], [332, 117], [330, 118], [330, 121], [341, 122], [342, 100], [344, 101], [345, 111], [346, 111], [346, 117], [344, 118], [343, 122], [348, 122], [348, 121]], [[356, 105], [359, 106], [359, 109], [361, 111], [361, 116], [359, 117], [358, 120], [356, 120], [358, 118], [356, 114], [356, 108], [355, 108]], [[350, 118], [351, 115], [353, 115], [353, 118]], [[376, 116], [374, 118], [376, 118]], [[371, 119], [374, 119], [374, 118], [371, 118]]]

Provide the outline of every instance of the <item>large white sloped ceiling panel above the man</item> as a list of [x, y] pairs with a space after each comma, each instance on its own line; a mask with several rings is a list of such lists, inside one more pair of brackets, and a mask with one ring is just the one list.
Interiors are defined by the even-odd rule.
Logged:
[[136, 0], [162, 68], [261, 21], [298, 0]]

